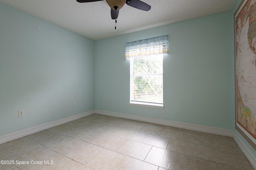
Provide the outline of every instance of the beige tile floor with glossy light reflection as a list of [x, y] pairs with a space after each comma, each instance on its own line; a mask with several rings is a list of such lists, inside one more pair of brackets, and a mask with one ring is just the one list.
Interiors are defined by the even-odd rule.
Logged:
[[254, 170], [233, 138], [93, 114], [0, 145], [1, 170]]

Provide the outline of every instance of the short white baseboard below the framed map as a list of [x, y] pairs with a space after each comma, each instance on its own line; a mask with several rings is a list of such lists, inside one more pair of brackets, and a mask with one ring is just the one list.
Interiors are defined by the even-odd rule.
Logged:
[[254, 154], [252, 154], [252, 152], [246, 147], [244, 142], [242, 142], [242, 140], [236, 135], [235, 132], [233, 132], [233, 139], [236, 141], [237, 145], [242, 150], [249, 162], [252, 164], [254, 169], [256, 169], [256, 157], [254, 156]]

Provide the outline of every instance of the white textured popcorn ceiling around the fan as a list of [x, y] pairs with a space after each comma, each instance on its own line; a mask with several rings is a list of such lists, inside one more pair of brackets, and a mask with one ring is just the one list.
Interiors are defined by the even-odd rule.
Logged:
[[163, 26], [174, 22], [231, 10], [236, 0], [142, 0], [148, 12], [124, 5], [116, 30], [106, 1], [78, 3], [76, 0], [0, 0], [48, 22], [99, 40]]

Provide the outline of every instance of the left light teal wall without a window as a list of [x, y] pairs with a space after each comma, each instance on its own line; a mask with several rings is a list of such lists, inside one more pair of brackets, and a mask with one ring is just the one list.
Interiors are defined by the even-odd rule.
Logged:
[[92, 109], [94, 41], [0, 3], [0, 136]]

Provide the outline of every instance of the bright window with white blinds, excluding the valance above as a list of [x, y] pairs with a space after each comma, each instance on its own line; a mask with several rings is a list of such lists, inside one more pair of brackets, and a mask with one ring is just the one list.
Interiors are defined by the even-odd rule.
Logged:
[[163, 55], [130, 59], [130, 104], [163, 106]]

